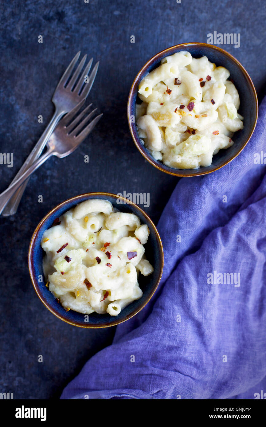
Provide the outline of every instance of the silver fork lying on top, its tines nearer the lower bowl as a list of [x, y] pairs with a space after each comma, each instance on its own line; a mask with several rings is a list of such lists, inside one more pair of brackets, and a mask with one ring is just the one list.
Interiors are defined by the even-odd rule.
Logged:
[[[13, 196], [14, 193], [16, 193], [21, 184], [23, 184], [23, 182], [29, 178], [29, 176], [35, 172], [35, 170], [38, 169], [41, 164], [43, 164], [49, 157], [53, 155], [57, 156], [58, 158], [68, 156], [92, 131], [96, 123], [98, 123], [102, 117], [102, 114], [99, 114], [89, 124], [87, 124], [88, 121], [92, 119], [97, 109], [95, 108], [87, 116], [85, 116], [92, 104], [88, 105], [88, 107], [81, 111], [81, 113], [79, 113], [79, 115], [74, 120], [72, 120], [84, 102], [85, 98], [82, 99], [82, 101], [79, 102], [79, 104], [76, 105], [72, 111], [66, 114], [62, 120], [60, 120], [58, 126], [56, 126], [56, 129], [53, 131], [50, 139], [47, 142], [47, 151], [41, 157], [39, 157], [38, 160], [36, 160], [20, 176], [20, 178], [18, 178], [2, 194], [0, 194], [0, 214], [8, 203], [9, 199]], [[87, 126], [82, 129], [86, 124]]]

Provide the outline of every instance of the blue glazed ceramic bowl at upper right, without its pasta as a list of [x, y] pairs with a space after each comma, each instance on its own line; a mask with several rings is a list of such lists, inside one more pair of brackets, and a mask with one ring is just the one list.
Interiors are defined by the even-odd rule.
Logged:
[[[155, 160], [145, 146], [140, 142], [137, 134], [137, 127], [132, 123], [131, 117], [135, 117], [135, 105], [137, 101], [137, 92], [140, 81], [147, 73], [154, 70], [160, 65], [161, 59], [165, 56], [173, 55], [181, 50], [187, 50], [194, 58], [207, 56], [209, 61], [214, 62], [216, 67], [222, 66], [230, 71], [230, 78], [234, 81], [239, 96], [240, 108], [239, 114], [244, 117], [244, 128], [234, 134], [234, 144], [224, 150], [220, 150], [213, 156], [212, 164], [208, 167], [200, 167], [199, 169], [175, 169], [164, 165], [161, 161]], [[175, 176], [195, 176], [205, 175], [206, 173], [213, 172], [233, 160], [245, 147], [254, 132], [257, 115], [258, 115], [258, 101], [254, 85], [246, 72], [245, 68], [237, 61], [230, 53], [221, 49], [220, 47], [212, 46], [205, 43], [184, 43], [177, 46], [169, 47], [157, 55], [153, 56], [140, 70], [137, 77], [134, 79], [132, 87], [129, 92], [129, 100], [127, 106], [127, 115], [129, 122], [129, 129], [137, 149], [141, 154], [157, 169], [165, 173]]]

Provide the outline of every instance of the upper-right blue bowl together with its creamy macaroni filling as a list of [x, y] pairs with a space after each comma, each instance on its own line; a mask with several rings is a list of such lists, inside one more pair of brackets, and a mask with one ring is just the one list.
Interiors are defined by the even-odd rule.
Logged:
[[137, 149], [175, 176], [205, 175], [233, 160], [257, 123], [258, 102], [244, 67], [205, 43], [170, 47], [151, 58], [129, 93]]

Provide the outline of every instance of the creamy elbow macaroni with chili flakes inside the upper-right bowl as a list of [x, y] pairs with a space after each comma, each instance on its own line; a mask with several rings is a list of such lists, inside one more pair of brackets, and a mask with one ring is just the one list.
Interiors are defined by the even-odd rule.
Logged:
[[229, 76], [206, 56], [193, 58], [182, 51], [163, 58], [141, 80], [137, 129], [155, 160], [197, 169], [210, 166], [214, 154], [233, 145], [243, 117], [237, 113], [239, 95]]

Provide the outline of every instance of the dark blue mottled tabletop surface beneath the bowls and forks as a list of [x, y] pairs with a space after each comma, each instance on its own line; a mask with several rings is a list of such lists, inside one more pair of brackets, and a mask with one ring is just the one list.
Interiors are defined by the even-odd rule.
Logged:
[[[145, 210], [158, 221], [177, 178], [147, 163], [130, 137], [126, 102], [138, 70], [174, 44], [207, 42], [215, 30], [240, 32], [240, 48], [221, 47], [246, 68], [260, 100], [266, 76], [265, 18], [265, 0], [1, 0], [0, 151], [14, 153], [14, 167], [0, 165], [0, 190], [50, 120], [54, 88], [78, 50], [100, 61], [88, 100], [104, 117], [76, 152], [52, 158], [32, 176], [17, 215], [0, 217], [0, 392], [13, 392], [16, 399], [58, 398], [85, 361], [111, 344], [114, 328], [76, 328], [44, 307], [29, 279], [27, 252], [47, 211], [80, 193], [150, 193]], [[38, 35], [43, 35], [42, 44]], [[39, 114], [44, 123], [38, 123]], [[86, 154], [89, 164], [84, 163]], [[43, 203], [38, 203], [40, 194]], [[43, 363], [38, 363], [39, 354]]]

